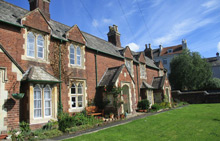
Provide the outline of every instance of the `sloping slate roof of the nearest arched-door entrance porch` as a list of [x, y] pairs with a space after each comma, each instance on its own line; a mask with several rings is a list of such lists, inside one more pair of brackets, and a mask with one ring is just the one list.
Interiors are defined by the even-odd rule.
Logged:
[[113, 86], [124, 67], [125, 65], [108, 68], [105, 74], [102, 76], [102, 79], [99, 82], [99, 86]]

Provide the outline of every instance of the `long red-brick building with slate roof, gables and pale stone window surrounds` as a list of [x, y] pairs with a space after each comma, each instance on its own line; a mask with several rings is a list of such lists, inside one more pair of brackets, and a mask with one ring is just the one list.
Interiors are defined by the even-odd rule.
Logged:
[[58, 105], [80, 112], [106, 96], [103, 87], [123, 88], [120, 113], [135, 113], [144, 98], [170, 101], [161, 62], [121, 47], [116, 25], [105, 41], [50, 19], [50, 0], [29, 3], [30, 11], [0, 0], [0, 133], [21, 121], [36, 129], [56, 120]]

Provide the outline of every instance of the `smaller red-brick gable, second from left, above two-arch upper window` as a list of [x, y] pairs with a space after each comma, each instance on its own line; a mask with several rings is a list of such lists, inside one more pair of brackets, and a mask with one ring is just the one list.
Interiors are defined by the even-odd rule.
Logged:
[[66, 38], [81, 44], [86, 44], [85, 38], [77, 25], [74, 25], [69, 31], [67, 31]]

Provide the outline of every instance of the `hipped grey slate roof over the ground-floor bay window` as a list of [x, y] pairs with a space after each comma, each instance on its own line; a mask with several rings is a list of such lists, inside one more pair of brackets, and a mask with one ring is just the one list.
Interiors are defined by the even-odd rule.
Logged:
[[41, 67], [32, 66], [24, 74], [21, 81], [50, 81], [50, 82], [60, 82], [50, 73], [46, 72]]

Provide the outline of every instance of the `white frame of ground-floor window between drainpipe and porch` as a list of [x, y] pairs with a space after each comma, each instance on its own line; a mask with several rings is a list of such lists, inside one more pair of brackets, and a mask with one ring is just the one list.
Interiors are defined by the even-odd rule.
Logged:
[[[75, 93], [72, 93], [72, 88], [73, 85], [75, 86]], [[79, 85], [81, 85], [81, 90], [82, 90], [82, 93], [79, 93]], [[82, 107], [79, 107], [79, 97], [82, 96]], [[75, 107], [73, 107], [72, 105], [72, 97], [75, 97]], [[85, 107], [85, 102], [84, 102], [84, 97], [85, 97], [85, 93], [84, 93], [84, 87], [83, 87], [83, 82], [75, 82], [75, 83], [72, 83], [71, 84], [71, 88], [70, 88], [70, 102], [71, 102], [71, 105], [70, 105], [70, 108], [71, 109], [83, 109]]]

